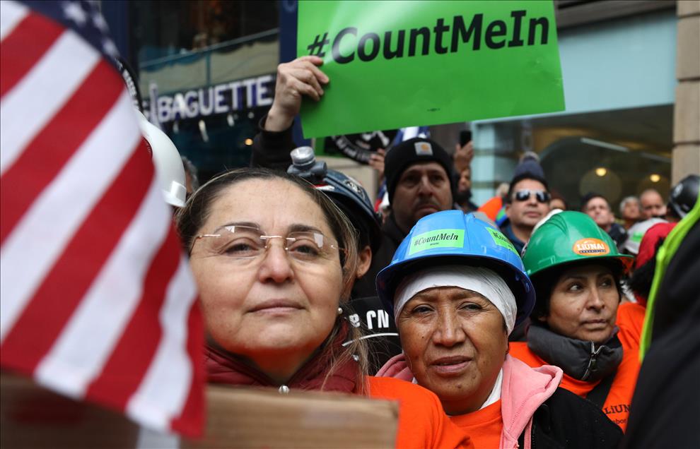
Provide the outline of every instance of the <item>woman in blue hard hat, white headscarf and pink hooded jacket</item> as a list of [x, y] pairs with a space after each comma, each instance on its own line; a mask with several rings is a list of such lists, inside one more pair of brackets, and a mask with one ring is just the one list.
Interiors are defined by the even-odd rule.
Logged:
[[617, 447], [617, 426], [558, 388], [561, 369], [508, 355], [508, 334], [530, 314], [535, 292], [498, 229], [457, 210], [428, 215], [377, 287], [404, 350], [378, 375], [432, 390], [476, 447]]

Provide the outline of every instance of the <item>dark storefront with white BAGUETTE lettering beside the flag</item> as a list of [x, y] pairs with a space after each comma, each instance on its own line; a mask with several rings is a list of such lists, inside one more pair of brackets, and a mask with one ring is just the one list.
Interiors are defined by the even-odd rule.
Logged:
[[250, 162], [279, 61], [276, 1], [130, 2], [146, 115], [204, 182]]

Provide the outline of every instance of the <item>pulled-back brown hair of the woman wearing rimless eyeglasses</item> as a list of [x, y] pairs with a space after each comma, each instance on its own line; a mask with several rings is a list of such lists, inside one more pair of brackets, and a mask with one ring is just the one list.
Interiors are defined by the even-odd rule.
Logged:
[[[262, 168], [234, 169], [215, 176], [199, 187], [187, 200], [185, 206], [178, 210], [177, 215], [175, 215], [177, 230], [180, 233], [182, 245], [185, 246], [185, 251], [187, 253], [191, 251], [194, 239], [201, 233], [202, 226], [211, 214], [211, 206], [223, 194], [223, 191], [235, 184], [252, 179], [269, 181], [283, 179], [298, 186], [301, 191], [320, 206], [333, 232], [333, 237], [343, 249], [340, 261], [343, 273], [343, 290], [340, 295], [340, 302], [345, 303], [348, 301], [357, 270], [357, 244], [354, 228], [344, 213], [324, 193], [300, 177], [286, 174], [285, 172], [274, 172]], [[268, 193], [261, 192], [260, 194], [265, 195]], [[337, 347], [340, 345], [337, 344], [337, 340], [344, 337], [344, 328], [348, 329], [347, 338], [352, 340], [352, 342], [338, 351]], [[346, 361], [354, 356], [358, 356], [360, 369], [358, 370], [356, 385], [358, 385], [358, 390], [361, 393], [364, 392], [364, 376], [366, 376], [368, 371], [367, 345], [365, 340], [361, 340], [360, 331], [354, 326], [345, 323], [344, 316], [339, 316], [336, 320], [333, 330], [320, 347], [320, 351], [322, 352], [321, 357], [327, 357], [326, 359], [330, 360], [326, 380]]]

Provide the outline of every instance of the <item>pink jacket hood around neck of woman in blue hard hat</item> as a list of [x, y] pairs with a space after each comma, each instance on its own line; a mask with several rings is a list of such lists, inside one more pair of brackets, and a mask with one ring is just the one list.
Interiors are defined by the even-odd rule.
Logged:
[[[503, 431], [500, 449], [518, 448], [518, 436], [525, 431], [525, 449], [532, 441], [532, 417], [535, 410], [554, 394], [562, 371], [557, 366], [543, 365], [530, 368], [522, 361], [506, 356], [503, 362], [501, 387], [501, 416]], [[393, 377], [412, 381], [413, 373], [404, 354], [392, 357], [377, 373], [378, 377]]]

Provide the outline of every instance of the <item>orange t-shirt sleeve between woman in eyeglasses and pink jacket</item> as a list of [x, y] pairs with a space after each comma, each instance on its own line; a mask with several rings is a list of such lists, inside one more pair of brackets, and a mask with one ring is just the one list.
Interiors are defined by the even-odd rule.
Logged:
[[397, 448], [474, 448], [469, 436], [445, 414], [435, 393], [395, 378], [367, 380], [370, 397], [399, 401]]

